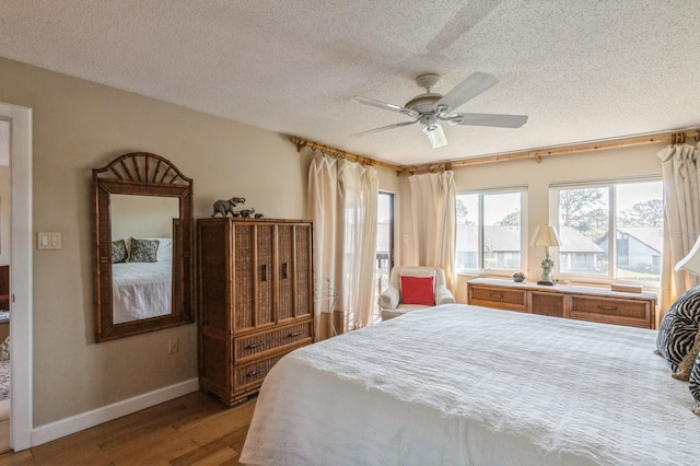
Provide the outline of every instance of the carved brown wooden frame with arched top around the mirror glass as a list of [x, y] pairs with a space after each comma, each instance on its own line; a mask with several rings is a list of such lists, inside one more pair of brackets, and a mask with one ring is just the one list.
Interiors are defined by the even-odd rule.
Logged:
[[[95, 230], [95, 327], [97, 342], [195, 322], [192, 180], [167, 159], [132, 152], [92, 171]], [[173, 222], [173, 293], [171, 314], [115, 324], [112, 286], [110, 195], [179, 198]]]

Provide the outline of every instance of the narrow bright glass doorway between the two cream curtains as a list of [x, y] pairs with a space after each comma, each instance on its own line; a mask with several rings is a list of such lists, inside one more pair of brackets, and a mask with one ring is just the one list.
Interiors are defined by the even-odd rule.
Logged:
[[374, 310], [372, 322], [382, 319], [382, 310], [376, 300], [389, 284], [389, 273], [394, 267], [394, 194], [380, 191], [376, 224], [376, 267], [374, 268]]

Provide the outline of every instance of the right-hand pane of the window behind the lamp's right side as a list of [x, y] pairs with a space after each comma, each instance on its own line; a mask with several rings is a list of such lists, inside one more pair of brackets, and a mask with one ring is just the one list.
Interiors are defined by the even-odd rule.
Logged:
[[661, 280], [664, 207], [662, 182], [615, 187], [616, 278]]

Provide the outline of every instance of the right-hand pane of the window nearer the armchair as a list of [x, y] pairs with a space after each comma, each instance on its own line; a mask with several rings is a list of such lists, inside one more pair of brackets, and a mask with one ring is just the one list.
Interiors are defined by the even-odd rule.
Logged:
[[521, 269], [520, 193], [483, 196], [483, 268]]

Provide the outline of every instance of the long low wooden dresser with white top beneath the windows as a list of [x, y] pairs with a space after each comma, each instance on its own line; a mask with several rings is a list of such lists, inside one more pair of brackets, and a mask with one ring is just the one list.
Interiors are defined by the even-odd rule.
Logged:
[[467, 282], [469, 304], [556, 317], [655, 328], [656, 294], [603, 288], [553, 287], [508, 280]]

